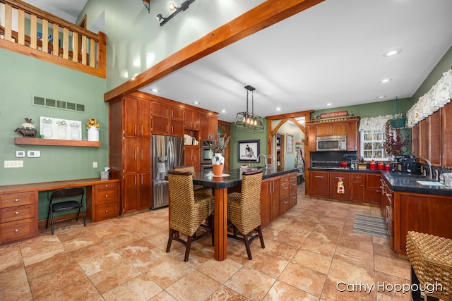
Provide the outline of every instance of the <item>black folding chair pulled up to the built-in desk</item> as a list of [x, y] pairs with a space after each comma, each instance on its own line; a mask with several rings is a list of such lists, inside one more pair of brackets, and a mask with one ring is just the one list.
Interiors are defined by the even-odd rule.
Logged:
[[52, 235], [54, 235], [54, 212], [69, 211], [73, 209], [78, 209], [77, 219], [80, 215], [80, 209], [83, 213], [83, 226], [86, 227], [85, 221], [85, 209], [83, 208], [83, 195], [85, 191], [83, 188], [62, 188], [55, 190], [50, 195], [49, 199], [49, 212], [47, 213], [47, 222], [45, 223], [45, 228], [49, 226], [49, 216], [50, 224], [52, 226]]

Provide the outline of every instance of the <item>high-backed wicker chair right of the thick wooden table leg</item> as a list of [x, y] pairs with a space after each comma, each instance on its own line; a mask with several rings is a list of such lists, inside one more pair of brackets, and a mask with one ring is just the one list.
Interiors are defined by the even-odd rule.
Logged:
[[[232, 223], [233, 233], [227, 236], [245, 243], [246, 254], [251, 260], [251, 250], [249, 244], [259, 238], [261, 247], [263, 243], [261, 228], [261, 182], [262, 171], [249, 171], [242, 173], [241, 192], [232, 192], [227, 195], [227, 218]], [[237, 236], [237, 231], [243, 237]], [[250, 235], [252, 231], [256, 231]]]

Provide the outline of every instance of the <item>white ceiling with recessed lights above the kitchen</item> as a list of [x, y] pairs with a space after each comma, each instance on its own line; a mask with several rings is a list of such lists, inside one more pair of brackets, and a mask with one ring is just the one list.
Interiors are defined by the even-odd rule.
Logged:
[[[65, 13], [76, 3], [27, 2], [46, 1]], [[451, 12], [451, 0], [326, 0], [141, 90], [225, 110], [219, 118], [231, 122], [246, 109], [246, 85], [260, 116], [412, 97], [452, 46]], [[403, 51], [383, 57], [392, 49]]]

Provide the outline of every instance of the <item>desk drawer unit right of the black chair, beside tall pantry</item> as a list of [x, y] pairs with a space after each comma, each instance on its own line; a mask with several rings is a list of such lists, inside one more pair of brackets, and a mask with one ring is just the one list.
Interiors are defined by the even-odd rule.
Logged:
[[94, 185], [86, 191], [86, 216], [103, 221], [119, 215], [119, 183]]

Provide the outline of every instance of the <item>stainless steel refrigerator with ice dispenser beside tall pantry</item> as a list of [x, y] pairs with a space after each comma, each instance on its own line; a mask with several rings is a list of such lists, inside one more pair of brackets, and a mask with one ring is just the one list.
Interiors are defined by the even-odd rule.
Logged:
[[184, 165], [184, 138], [153, 135], [153, 203], [151, 209], [168, 206], [167, 171]]

